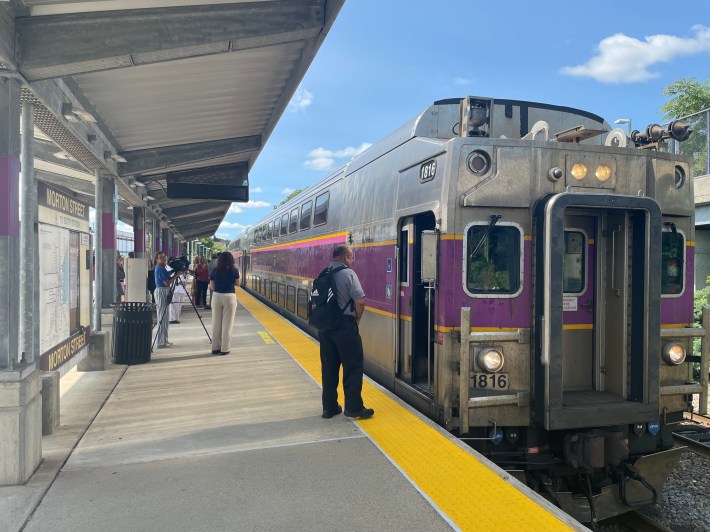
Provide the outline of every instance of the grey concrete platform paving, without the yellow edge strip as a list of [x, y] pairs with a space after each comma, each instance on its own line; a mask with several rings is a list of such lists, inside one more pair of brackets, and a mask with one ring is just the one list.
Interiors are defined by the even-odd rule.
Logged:
[[0, 488], [0, 530], [451, 529], [356, 423], [320, 417], [319, 386], [243, 307], [224, 357], [192, 308], [181, 321], [147, 364], [62, 379], [60, 429]]

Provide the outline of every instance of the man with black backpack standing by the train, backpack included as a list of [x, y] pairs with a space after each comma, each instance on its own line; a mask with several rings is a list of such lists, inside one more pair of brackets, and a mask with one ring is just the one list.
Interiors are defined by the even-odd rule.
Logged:
[[365, 292], [351, 269], [355, 254], [350, 246], [333, 251], [333, 262], [313, 281], [309, 323], [320, 338], [323, 417], [343, 412], [338, 404], [338, 380], [343, 366], [345, 415], [367, 419], [375, 414], [362, 402], [363, 352], [358, 325], [365, 310]]

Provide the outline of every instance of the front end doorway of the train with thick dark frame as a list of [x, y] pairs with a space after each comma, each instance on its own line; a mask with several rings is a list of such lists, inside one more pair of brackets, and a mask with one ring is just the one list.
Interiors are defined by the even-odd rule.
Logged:
[[546, 429], [657, 419], [661, 228], [650, 198], [538, 203], [534, 404]]

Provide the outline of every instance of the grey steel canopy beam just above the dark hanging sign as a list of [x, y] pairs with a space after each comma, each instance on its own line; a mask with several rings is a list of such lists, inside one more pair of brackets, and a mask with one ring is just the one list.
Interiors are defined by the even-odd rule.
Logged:
[[118, 172], [122, 176], [143, 174], [169, 169], [181, 164], [208, 161], [245, 151], [259, 150], [260, 148], [261, 136], [253, 135], [163, 148], [131, 150], [121, 153], [128, 162], [120, 163]]

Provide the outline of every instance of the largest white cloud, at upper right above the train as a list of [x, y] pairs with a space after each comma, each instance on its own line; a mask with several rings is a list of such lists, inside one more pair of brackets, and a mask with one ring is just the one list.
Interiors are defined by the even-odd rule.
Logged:
[[695, 37], [651, 35], [644, 41], [617, 33], [602, 39], [597, 55], [583, 65], [563, 67], [568, 76], [590, 77], [602, 83], [635, 83], [658, 77], [649, 67], [676, 57], [710, 52], [710, 28], [693, 26]]

